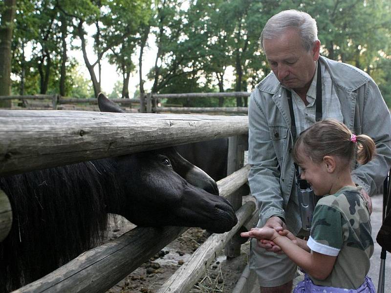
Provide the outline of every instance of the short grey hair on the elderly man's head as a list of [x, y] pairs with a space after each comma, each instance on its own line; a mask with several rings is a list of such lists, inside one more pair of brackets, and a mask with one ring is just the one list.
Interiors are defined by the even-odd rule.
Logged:
[[264, 50], [264, 39], [274, 39], [282, 34], [287, 28], [297, 28], [304, 49], [307, 52], [312, 49], [313, 43], [318, 40], [316, 21], [308, 13], [290, 9], [277, 13], [266, 22], [260, 38], [261, 49]]

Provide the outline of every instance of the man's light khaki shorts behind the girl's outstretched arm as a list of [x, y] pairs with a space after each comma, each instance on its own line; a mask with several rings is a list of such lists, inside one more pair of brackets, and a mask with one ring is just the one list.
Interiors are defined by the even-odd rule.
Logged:
[[[299, 232], [303, 233], [308, 234], [304, 230]], [[259, 247], [254, 238], [250, 246], [250, 269], [257, 273], [261, 287], [281, 286], [299, 275], [296, 264], [286, 254], [267, 251]]]

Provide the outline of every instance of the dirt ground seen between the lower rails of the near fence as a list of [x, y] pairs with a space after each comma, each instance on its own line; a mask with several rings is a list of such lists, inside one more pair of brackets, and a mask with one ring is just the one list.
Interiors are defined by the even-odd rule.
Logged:
[[[112, 223], [108, 240], [120, 236], [134, 226], [127, 220]], [[207, 239], [208, 232], [190, 228], [141, 267], [130, 273], [107, 293], [155, 293], [165, 281]], [[209, 270], [195, 284], [191, 293], [232, 292], [248, 259], [249, 241], [242, 245], [239, 257], [228, 259], [222, 251]]]

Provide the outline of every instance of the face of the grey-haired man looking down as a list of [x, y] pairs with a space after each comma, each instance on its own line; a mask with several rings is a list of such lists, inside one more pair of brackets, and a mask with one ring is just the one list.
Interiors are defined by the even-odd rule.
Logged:
[[283, 85], [304, 90], [311, 84], [319, 57], [320, 42], [315, 41], [307, 52], [296, 29], [287, 29], [280, 36], [263, 40], [266, 58], [274, 74]]

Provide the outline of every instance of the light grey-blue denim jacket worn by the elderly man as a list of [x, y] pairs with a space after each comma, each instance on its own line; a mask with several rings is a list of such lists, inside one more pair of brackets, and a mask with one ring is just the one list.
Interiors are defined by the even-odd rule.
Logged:
[[[379, 88], [364, 71], [320, 57], [341, 103], [344, 124], [355, 134], [365, 133], [376, 144], [376, 157], [355, 164], [352, 177], [369, 195], [376, 193], [391, 166], [391, 117]], [[273, 72], [256, 86], [250, 97], [248, 180], [260, 208], [262, 227], [268, 218], [285, 219], [293, 233], [301, 229], [294, 187], [295, 168], [291, 120], [285, 89]]]

